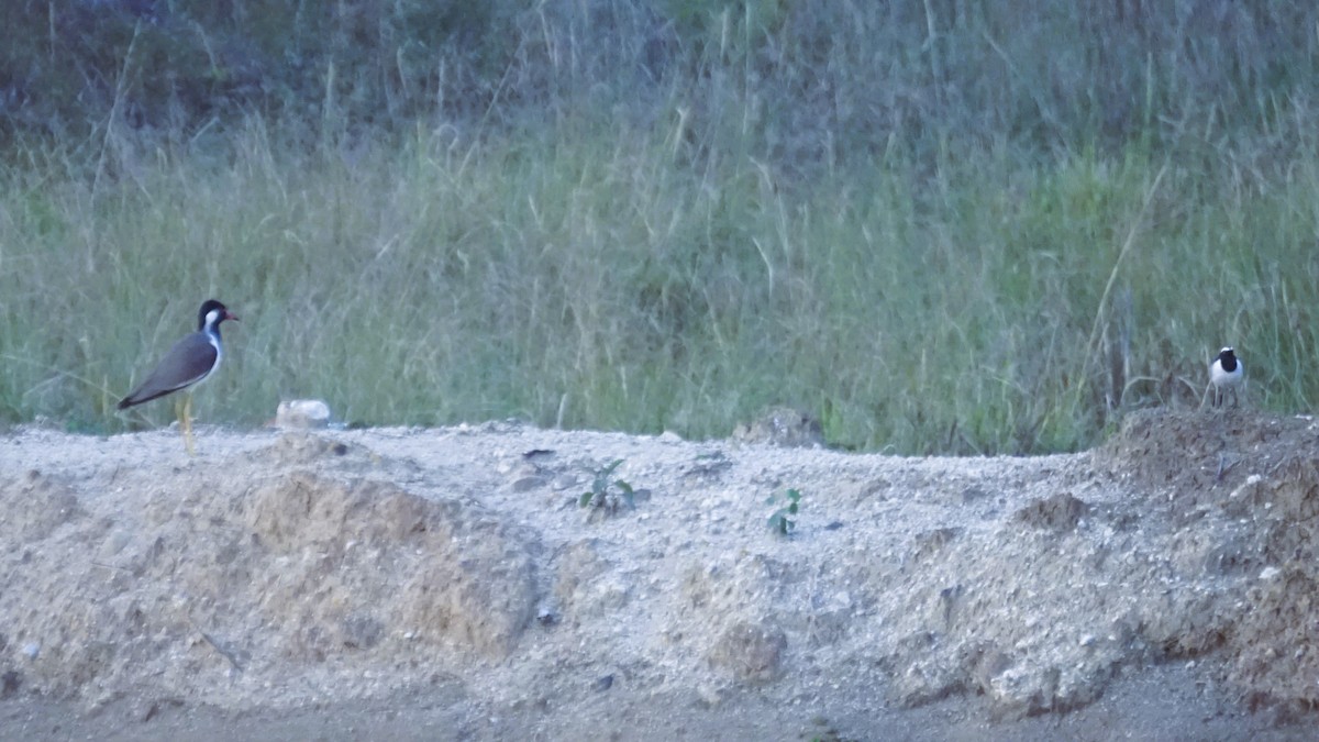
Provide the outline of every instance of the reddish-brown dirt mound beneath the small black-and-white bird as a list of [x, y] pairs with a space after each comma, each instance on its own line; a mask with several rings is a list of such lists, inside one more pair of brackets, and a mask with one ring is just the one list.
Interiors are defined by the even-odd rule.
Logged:
[[[1169, 529], [1174, 564], [1224, 578], [1216, 598], [1162, 630], [1167, 648], [1219, 648], [1225, 676], [1256, 705], [1319, 705], [1319, 424], [1142, 413], [1096, 459], [1150, 490], [1158, 506], [1145, 525]], [[1224, 613], [1229, 601], [1245, 610]]]

